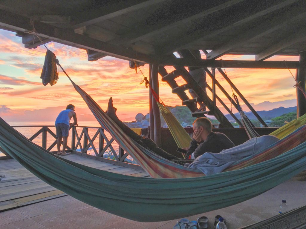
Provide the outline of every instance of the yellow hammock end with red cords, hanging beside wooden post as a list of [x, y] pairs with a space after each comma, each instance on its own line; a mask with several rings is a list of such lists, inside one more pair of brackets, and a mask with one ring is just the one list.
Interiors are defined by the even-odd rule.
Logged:
[[141, 83], [143, 82], [145, 82], [146, 87], [150, 88], [151, 93], [159, 107], [160, 113], [162, 114], [162, 117], [164, 118], [177, 146], [179, 148], [189, 147], [192, 138], [188, 135], [182, 125], [177, 121], [175, 116], [166, 107], [164, 102], [162, 102], [161, 98], [156, 94], [155, 90], [153, 90], [149, 81], [147, 80], [147, 77], [144, 77], [144, 80]]

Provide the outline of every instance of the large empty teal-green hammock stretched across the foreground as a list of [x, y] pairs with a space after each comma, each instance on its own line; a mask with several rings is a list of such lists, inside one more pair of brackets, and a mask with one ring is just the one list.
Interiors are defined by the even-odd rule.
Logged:
[[132, 220], [173, 220], [253, 198], [306, 169], [306, 142], [236, 171], [152, 179], [116, 174], [58, 157], [0, 118], [0, 147], [34, 175], [70, 196]]

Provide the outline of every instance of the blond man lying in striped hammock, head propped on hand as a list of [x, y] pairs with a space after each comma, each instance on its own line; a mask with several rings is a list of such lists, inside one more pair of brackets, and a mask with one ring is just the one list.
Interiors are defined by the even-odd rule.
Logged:
[[[195, 157], [198, 157], [207, 151], [219, 153], [221, 150], [229, 149], [235, 146], [233, 142], [226, 137], [226, 135], [221, 134], [221, 133], [212, 132], [212, 124], [209, 121], [209, 119], [200, 118], [200, 119], [197, 119], [197, 120], [200, 120], [199, 122], [196, 122], [197, 120], [194, 122], [193, 129], [195, 130], [195, 135], [194, 135], [195, 139], [192, 140], [190, 144], [190, 148], [187, 151], [188, 157], [190, 155], [190, 158], [188, 158], [190, 160], [181, 159], [181, 158], [178, 158], [162, 150], [151, 139], [143, 138], [140, 135], [136, 134], [129, 127], [123, 124], [121, 120], [118, 119], [116, 115], [116, 111], [117, 109], [114, 108], [113, 106], [113, 99], [110, 98], [108, 102], [106, 114], [125, 132], [126, 135], [128, 135], [131, 139], [133, 139], [135, 142], [145, 147], [146, 149], [149, 149], [153, 151], [154, 153], [156, 153], [157, 155], [163, 158], [166, 158], [167, 160], [173, 161], [177, 164], [184, 165], [185, 163], [191, 163]], [[202, 119], [205, 119], [205, 120], [202, 120]], [[224, 141], [224, 142], [221, 142], [221, 141]], [[198, 143], [200, 143], [199, 147], [197, 146]], [[215, 146], [208, 146], [210, 144], [214, 144]], [[192, 154], [194, 155], [194, 157], [191, 159]]]

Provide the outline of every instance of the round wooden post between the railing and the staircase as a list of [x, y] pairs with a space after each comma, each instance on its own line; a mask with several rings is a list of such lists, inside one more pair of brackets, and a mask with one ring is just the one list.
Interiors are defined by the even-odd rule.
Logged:
[[[157, 96], [159, 96], [158, 67], [159, 65], [157, 63], [153, 63], [151, 69], [151, 80], [152, 80], [151, 85]], [[157, 146], [161, 147], [162, 146], [161, 120], [160, 120], [159, 107], [155, 101], [155, 98], [152, 98], [152, 110], [154, 113], [154, 142], [156, 143]]]

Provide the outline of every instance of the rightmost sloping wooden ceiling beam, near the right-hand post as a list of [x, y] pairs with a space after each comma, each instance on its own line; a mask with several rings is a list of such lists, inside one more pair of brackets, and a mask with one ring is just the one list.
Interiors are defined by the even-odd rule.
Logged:
[[255, 56], [255, 60], [256, 61], [261, 61], [261, 60], [265, 60], [271, 56], [273, 56], [274, 54], [286, 49], [287, 47], [294, 45], [298, 42], [301, 41], [306, 41], [306, 29], [301, 29], [299, 31], [297, 31], [296, 33], [293, 33], [289, 36], [286, 36], [283, 40], [281, 40], [280, 42], [271, 45], [269, 48], [267, 48], [266, 50], [263, 50], [262, 52], [260, 52], [259, 54], [257, 54]]

